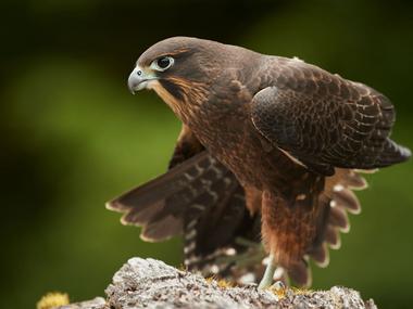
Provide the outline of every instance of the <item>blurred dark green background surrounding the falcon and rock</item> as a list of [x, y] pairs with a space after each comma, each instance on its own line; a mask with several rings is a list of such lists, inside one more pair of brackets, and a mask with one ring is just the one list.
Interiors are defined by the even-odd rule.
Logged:
[[[299, 56], [388, 95], [393, 138], [413, 147], [413, 1], [3, 0], [0, 14], [1, 307], [47, 292], [103, 295], [133, 256], [179, 265], [179, 240], [143, 243], [104, 202], [165, 170], [179, 123], [154, 93], [133, 96], [139, 54], [176, 35]], [[413, 164], [368, 176], [361, 216], [314, 269], [381, 308], [408, 308]]]

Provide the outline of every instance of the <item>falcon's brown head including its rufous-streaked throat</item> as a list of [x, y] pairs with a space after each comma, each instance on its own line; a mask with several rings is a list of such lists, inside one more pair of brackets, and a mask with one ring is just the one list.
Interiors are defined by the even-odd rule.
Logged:
[[[230, 73], [240, 48], [188, 37], [160, 41], [145, 51], [129, 75], [133, 93], [153, 89], [180, 118], [208, 100], [216, 80]], [[230, 80], [225, 78], [225, 80]], [[189, 103], [189, 104], [185, 104]]]

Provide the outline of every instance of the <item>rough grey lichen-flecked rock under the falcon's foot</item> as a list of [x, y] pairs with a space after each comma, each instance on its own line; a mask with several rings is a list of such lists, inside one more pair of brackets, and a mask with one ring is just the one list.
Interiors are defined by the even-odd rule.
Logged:
[[175, 269], [154, 259], [132, 258], [113, 276], [107, 300], [71, 304], [61, 309], [132, 308], [377, 308], [359, 292], [334, 286], [329, 291], [258, 291], [256, 285], [230, 286], [225, 281]]

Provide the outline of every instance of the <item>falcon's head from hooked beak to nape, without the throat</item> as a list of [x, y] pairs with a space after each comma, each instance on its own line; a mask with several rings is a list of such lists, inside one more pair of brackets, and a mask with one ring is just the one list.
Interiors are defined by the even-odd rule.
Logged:
[[[192, 83], [209, 83], [220, 68], [216, 53], [224, 44], [187, 37], [160, 41], [143, 52], [129, 75], [133, 93], [141, 89], [164, 88], [176, 98]], [[158, 91], [157, 91], [158, 92]]]

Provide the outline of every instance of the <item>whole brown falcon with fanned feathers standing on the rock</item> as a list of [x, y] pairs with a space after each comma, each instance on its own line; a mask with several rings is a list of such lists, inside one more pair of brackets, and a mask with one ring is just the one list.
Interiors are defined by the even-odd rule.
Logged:
[[310, 285], [310, 259], [325, 267], [360, 211], [360, 173], [411, 156], [389, 138], [389, 99], [299, 59], [174, 37], [140, 55], [128, 87], [183, 127], [168, 171], [108, 208], [143, 240], [183, 235], [190, 270], [263, 275], [260, 288]]

